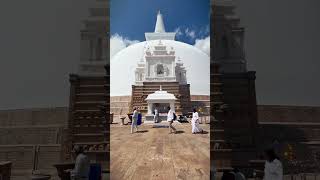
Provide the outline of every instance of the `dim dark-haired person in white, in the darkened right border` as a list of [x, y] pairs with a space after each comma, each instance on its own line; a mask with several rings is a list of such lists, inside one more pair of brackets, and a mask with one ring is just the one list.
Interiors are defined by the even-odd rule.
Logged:
[[265, 150], [266, 162], [264, 165], [263, 180], [283, 180], [282, 163], [273, 149]]

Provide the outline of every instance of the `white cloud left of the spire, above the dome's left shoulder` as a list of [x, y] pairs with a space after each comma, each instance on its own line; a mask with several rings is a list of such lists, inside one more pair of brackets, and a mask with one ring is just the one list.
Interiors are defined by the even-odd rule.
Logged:
[[129, 40], [128, 38], [122, 37], [119, 34], [112, 35], [110, 38], [110, 58], [112, 58], [122, 49], [138, 42], [138, 40]]

